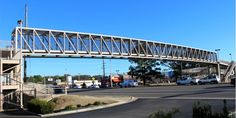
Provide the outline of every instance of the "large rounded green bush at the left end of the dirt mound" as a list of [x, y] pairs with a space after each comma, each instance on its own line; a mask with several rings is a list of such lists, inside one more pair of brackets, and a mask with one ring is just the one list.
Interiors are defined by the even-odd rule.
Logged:
[[27, 104], [28, 110], [39, 114], [53, 113], [55, 104], [40, 99], [32, 99]]

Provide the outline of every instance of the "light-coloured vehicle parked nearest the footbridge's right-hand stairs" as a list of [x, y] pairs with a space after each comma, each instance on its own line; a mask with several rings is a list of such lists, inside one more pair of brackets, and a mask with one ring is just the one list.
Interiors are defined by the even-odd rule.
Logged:
[[198, 84], [218, 84], [220, 83], [220, 78], [216, 75], [209, 75], [198, 81]]

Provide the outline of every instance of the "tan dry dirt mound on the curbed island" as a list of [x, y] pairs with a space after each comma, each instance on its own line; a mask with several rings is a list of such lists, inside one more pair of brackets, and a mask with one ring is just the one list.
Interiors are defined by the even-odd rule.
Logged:
[[81, 105], [86, 106], [88, 104], [93, 104], [96, 101], [111, 104], [117, 102], [112, 97], [95, 97], [95, 96], [85, 96], [85, 95], [62, 95], [59, 97], [52, 98], [49, 100], [50, 102], [55, 103], [55, 109], [54, 110], [61, 110], [64, 109], [68, 105]]

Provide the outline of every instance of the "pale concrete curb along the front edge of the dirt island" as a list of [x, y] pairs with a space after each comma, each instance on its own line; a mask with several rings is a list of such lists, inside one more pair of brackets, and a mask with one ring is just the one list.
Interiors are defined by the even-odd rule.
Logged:
[[109, 107], [114, 107], [118, 105], [123, 105], [123, 104], [128, 104], [131, 102], [136, 101], [138, 98], [135, 97], [130, 97], [128, 101], [119, 101], [113, 104], [108, 104], [108, 105], [102, 105], [102, 106], [94, 106], [94, 107], [89, 107], [89, 108], [84, 108], [84, 109], [77, 109], [77, 110], [71, 110], [71, 111], [63, 111], [63, 112], [58, 112], [58, 113], [52, 113], [52, 114], [35, 114], [40, 117], [52, 117], [52, 116], [60, 116], [60, 115], [67, 115], [67, 114], [73, 114], [73, 113], [81, 113], [81, 112], [86, 112], [86, 111], [93, 111], [93, 110], [98, 110], [98, 109], [104, 109], [104, 108], [109, 108]]

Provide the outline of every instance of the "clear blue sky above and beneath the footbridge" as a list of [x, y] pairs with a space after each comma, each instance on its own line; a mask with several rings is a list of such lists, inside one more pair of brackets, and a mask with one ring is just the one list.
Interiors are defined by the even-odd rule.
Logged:
[[[10, 40], [29, 7], [29, 27], [155, 40], [214, 51], [235, 60], [234, 0], [0, 0], [0, 40]], [[109, 60], [106, 60], [109, 73]], [[112, 72], [127, 72], [112, 60]], [[28, 59], [28, 74], [102, 74], [102, 60]]]

